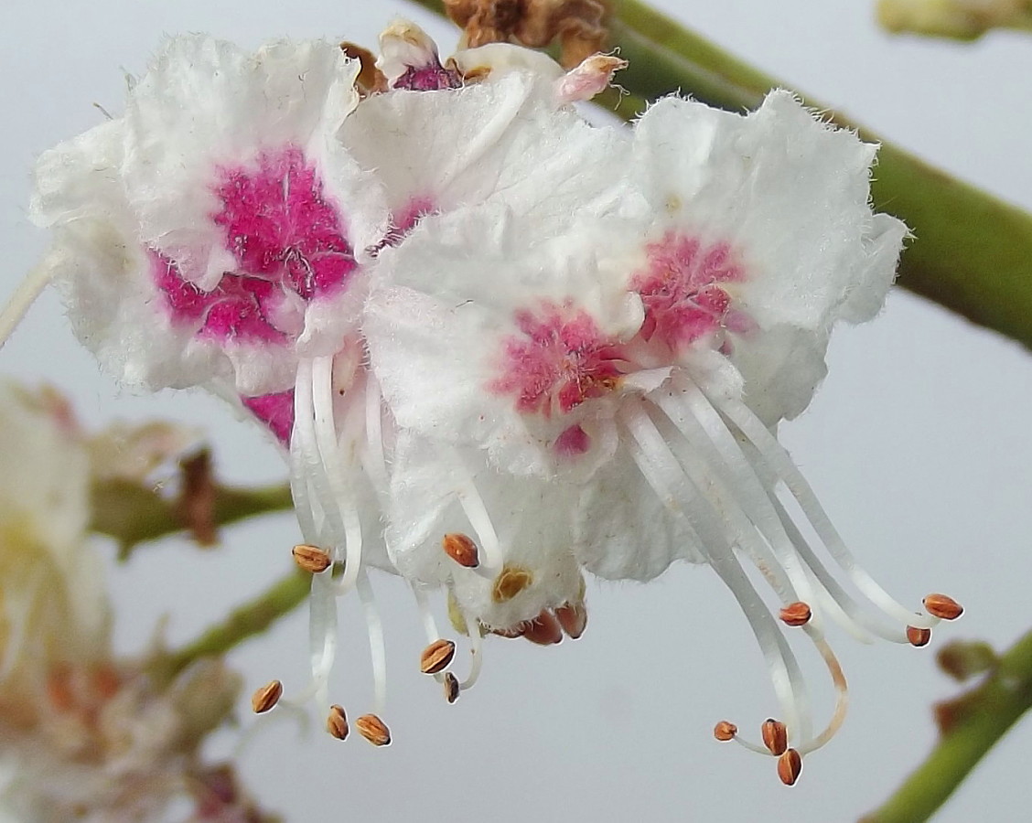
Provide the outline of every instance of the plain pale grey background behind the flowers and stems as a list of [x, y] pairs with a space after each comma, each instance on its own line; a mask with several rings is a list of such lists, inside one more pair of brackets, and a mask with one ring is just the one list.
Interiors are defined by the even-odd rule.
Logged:
[[[1032, 208], [1032, 38], [963, 45], [890, 38], [868, 0], [659, 0], [786, 84], [845, 111], [999, 196]], [[204, 31], [246, 45], [280, 35], [375, 47], [406, 14], [439, 38], [450, 25], [402, 2], [294, 0], [6, 0], [0, 12], [0, 292], [13, 290], [46, 238], [25, 216], [35, 156], [121, 110], [123, 73], [141, 71], [165, 33]], [[1030, 263], [1032, 266], [1032, 263]], [[1032, 269], [1030, 269], [1032, 270]], [[864, 647], [836, 636], [852, 689], [845, 728], [807, 758], [793, 789], [773, 761], [713, 740], [728, 718], [756, 736], [776, 711], [766, 669], [731, 595], [707, 568], [680, 566], [647, 586], [590, 583], [588, 630], [542, 649], [490, 638], [481, 682], [455, 705], [417, 670], [422, 633], [393, 580], [381, 595], [390, 666], [385, 719], [393, 745], [341, 744], [277, 724], [241, 756], [250, 788], [289, 821], [856, 820], [929, 750], [933, 701], [957, 690], [934, 663], [953, 637], [1005, 647], [1032, 626], [1032, 357], [897, 291], [884, 312], [842, 329], [830, 376], [783, 440], [867, 567], [905, 601], [944, 591], [967, 607], [930, 648]], [[93, 424], [166, 417], [203, 426], [228, 480], [275, 481], [284, 467], [255, 428], [199, 393], [126, 394], [99, 373], [47, 294], [0, 353], [0, 373], [60, 386]], [[122, 651], [170, 616], [192, 637], [290, 568], [289, 515], [228, 530], [226, 545], [141, 550], [110, 583]], [[108, 553], [112, 555], [114, 552]], [[248, 689], [272, 677], [303, 684], [299, 611], [233, 660]], [[372, 694], [355, 603], [343, 617], [334, 694], [354, 717]], [[817, 674], [819, 679], [819, 673]], [[253, 717], [241, 704], [241, 723]], [[236, 737], [212, 742], [228, 754]], [[987, 758], [942, 823], [1018, 821], [1032, 798], [1032, 722]]]

